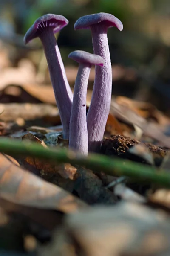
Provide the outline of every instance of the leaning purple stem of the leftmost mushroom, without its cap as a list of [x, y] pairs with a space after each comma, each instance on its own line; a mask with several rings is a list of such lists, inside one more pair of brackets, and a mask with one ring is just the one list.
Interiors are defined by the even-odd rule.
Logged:
[[40, 34], [45, 56], [50, 72], [51, 83], [54, 89], [55, 99], [59, 108], [59, 114], [63, 125], [63, 138], [69, 139], [69, 123], [73, 93], [68, 84], [64, 64], [59, 47], [54, 36], [53, 29], [48, 29]]

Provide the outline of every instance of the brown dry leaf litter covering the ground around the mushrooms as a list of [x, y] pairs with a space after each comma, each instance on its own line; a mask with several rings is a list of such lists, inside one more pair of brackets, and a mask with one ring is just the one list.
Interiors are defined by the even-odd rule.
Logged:
[[[40, 78], [31, 58], [16, 67], [7, 50], [0, 57], [1, 137], [67, 148], [47, 67]], [[113, 73], [114, 82], [137, 78], [135, 70], [116, 65]], [[67, 67], [66, 74], [74, 83], [77, 68]], [[90, 83], [94, 76], [93, 68]], [[91, 95], [90, 86], [87, 106]], [[150, 103], [112, 98], [100, 153], [169, 170], [169, 126], [170, 119]], [[169, 189], [29, 156], [2, 152], [0, 163], [0, 230], [13, 241], [3, 245], [7, 250], [42, 256], [170, 254]], [[26, 245], [29, 239], [34, 246]]]

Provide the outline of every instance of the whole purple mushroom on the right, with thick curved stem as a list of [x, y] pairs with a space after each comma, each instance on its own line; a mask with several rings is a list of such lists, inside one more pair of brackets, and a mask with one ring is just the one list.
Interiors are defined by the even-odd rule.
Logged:
[[94, 54], [105, 60], [105, 67], [96, 66], [94, 90], [87, 114], [89, 151], [96, 151], [103, 138], [111, 106], [112, 67], [107, 31], [112, 26], [120, 31], [123, 29], [119, 19], [103, 12], [80, 17], [74, 24], [75, 30], [91, 29]]

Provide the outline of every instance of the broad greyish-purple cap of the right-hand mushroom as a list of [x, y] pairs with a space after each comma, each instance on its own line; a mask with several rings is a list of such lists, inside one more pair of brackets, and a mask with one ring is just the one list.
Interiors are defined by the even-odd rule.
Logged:
[[90, 26], [103, 22], [108, 28], [116, 26], [120, 31], [123, 29], [122, 22], [110, 13], [100, 12], [80, 17], [74, 24], [74, 29], [89, 29]]

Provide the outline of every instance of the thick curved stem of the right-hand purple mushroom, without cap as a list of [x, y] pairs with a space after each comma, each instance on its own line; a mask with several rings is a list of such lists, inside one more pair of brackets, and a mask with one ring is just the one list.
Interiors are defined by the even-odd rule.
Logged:
[[108, 46], [107, 27], [103, 24], [91, 26], [94, 54], [102, 56], [105, 66], [96, 66], [96, 76], [91, 105], [87, 114], [88, 150], [96, 151], [103, 139], [111, 106], [112, 67]]

